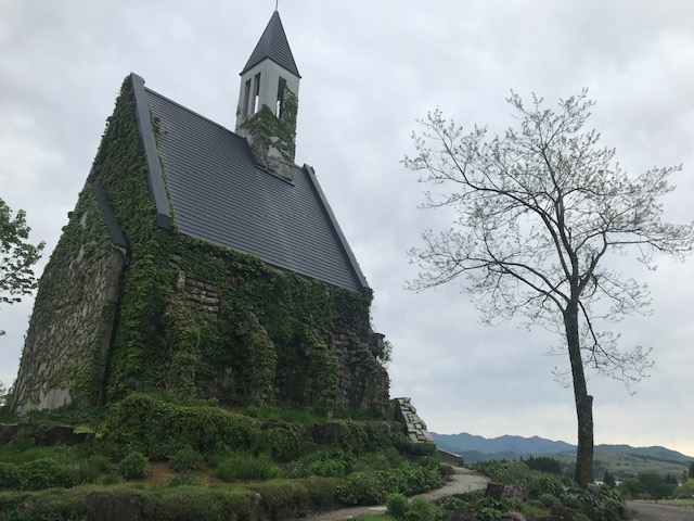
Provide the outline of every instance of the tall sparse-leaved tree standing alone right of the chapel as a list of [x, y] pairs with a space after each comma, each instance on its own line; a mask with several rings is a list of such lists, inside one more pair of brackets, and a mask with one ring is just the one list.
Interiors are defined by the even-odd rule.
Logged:
[[[512, 92], [517, 127], [488, 138], [485, 128], [463, 132], [440, 111], [414, 134], [416, 155], [404, 165], [426, 192], [424, 207], [451, 207], [452, 227], [425, 231], [410, 251], [422, 268], [414, 290], [464, 278], [483, 319], [490, 325], [520, 317], [560, 333], [568, 353], [578, 417], [576, 480], [592, 481], [593, 415], [584, 366], [637, 382], [651, 366], [650, 350], [617, 347], [605, 323], [647, 313], [645, 284], [608, 264], [608, 254], [631, 253], [653, 269], [654, 255], [681, 259], [692, 251], [694, 224], [661, 220], [660, 198], [681, 166], [630, 177], [615, 150], [599, 147], [600, 134], [583, 130], [594, 102], [587, 91], [560, 100], [558, 111], [534, 96], [526, 107]], [[603, 329], [601, 329], [601, 327]]]

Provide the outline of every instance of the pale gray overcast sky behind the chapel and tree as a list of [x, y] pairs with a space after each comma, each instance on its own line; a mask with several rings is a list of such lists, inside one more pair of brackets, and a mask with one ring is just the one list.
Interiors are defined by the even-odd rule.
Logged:
[[[43, 269], [67, 224], [123, 79], [233, 129], [239, 73], [274, 0], [0, 0], [0, 198], [24, 208]], [[553, 380], [556, 339], [488, 328], [460, 287], [413, 293], [406, 251], [445, 213], [400, 163], [416, 118], [440, 107], [465, 127], [512, 124], [513, 89], [550, 105], [590, 89], [589, 122], [630, 173], [684, 164], [666, 203], [694, 215], [694, 2], [691, 0], [281, 0], [303, 76], [297, 164], [316, 168], [374, 289], [373, 322], [395, 346], [391, 396], [411, 396], [439, 433], [540, 435], [576, 443], [570, 389]], [[592, 377], [595, 443], [664, 445], [694, 456], [694, 258], [640, 270], [655, 313], [615, 326], [653, 346], [630, 395]], [[0, 309], [0, 381], [18, 366], [33, 301]]]

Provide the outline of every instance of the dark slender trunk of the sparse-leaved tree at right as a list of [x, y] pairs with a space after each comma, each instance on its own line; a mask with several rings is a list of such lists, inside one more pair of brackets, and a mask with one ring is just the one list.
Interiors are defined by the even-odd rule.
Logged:
[[576, 454], [576, 481], [587, 486], [593, 481], [593, 397], [588, 394], [578, 331], [578, 304], [570, 303], [564, 312], [564, 326], [571, 363], [574, 398], [578, 418], [578, 452]]

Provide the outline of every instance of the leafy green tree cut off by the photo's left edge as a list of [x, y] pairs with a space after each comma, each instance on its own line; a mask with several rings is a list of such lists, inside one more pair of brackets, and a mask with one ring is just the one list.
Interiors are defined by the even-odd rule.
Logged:
[[[44, 243], [30, 244], [26, 214], [12, 211], [0, 199], [0, 303], [14, 304], [36, 288], [34, 265], [41, 257]], [[4, 334], [4, 331], [0, 331]]]

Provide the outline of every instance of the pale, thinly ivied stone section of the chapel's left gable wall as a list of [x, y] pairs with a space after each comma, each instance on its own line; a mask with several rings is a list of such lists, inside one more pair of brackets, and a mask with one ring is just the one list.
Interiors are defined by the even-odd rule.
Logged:
[[125, 259], [103, 245], [105, 225], [89, 198], [80, 195], [40, 279], [11, 398], [18, 412], [100, 399]]

